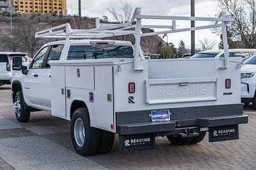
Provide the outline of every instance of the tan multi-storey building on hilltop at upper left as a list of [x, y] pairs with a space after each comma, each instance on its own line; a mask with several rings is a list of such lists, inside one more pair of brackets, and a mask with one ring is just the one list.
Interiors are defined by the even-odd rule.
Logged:
[[58, 13], [67, 15], [67, 0], [13, 0], [13, 10], [24, 13]]

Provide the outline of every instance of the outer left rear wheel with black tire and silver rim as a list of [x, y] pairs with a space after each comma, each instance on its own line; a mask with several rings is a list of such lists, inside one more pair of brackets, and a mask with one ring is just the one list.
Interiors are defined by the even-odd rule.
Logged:
[[86, 108], [76, 109], [72, 116], [71, 139], [79, 155], [88, 156], [97, 153], [100, 130], [90, 127], [90, 116]]

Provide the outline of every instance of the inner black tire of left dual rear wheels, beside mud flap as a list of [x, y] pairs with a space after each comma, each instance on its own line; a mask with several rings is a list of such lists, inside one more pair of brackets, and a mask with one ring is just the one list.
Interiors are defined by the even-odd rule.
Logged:
[[100, 144], [97, 153], [106, 154], [111, 151], [115, 141], [115, 134], [106, 130], [100, 130]]

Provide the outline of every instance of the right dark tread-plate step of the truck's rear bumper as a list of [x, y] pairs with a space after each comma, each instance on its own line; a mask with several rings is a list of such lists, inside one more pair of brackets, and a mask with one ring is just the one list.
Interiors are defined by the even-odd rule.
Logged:
[[196, 119], [200, 127], [220, 127], [248, 123], [248, 116], [244, 114], [230, 116], [216, 116]]

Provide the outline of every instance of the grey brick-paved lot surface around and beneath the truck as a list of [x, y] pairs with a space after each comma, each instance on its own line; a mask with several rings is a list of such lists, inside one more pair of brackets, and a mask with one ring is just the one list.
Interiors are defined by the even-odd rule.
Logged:
[[72, 148], [69, 122], [49, 112], [32, 112], [18, 123], [10, 86], [0, 87], [0, 169], [255, 169], [256, 111], [244, 108], [249, 123], [239, 126], [239, 140], [173, 146], [156, 138], [156, 149], [118, 153], [118, 136], [110, 153], [81, 157]]

